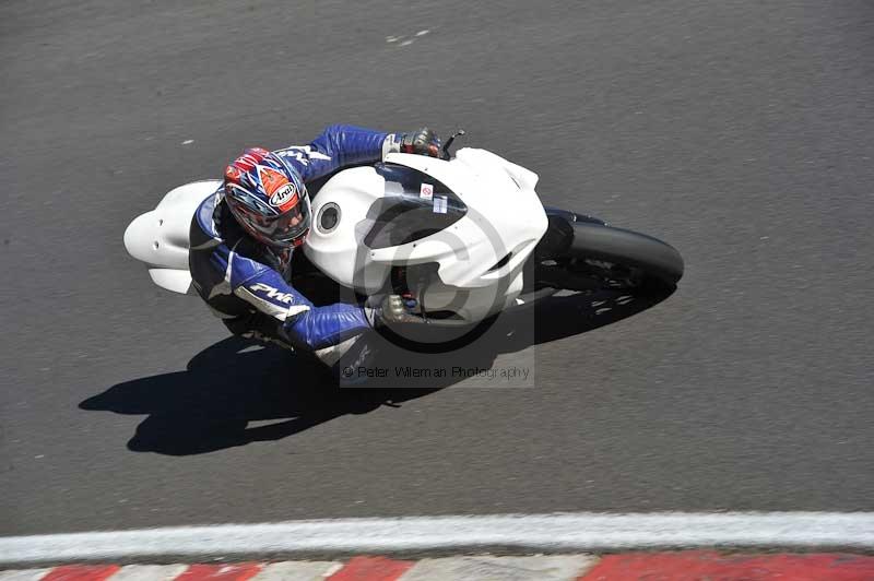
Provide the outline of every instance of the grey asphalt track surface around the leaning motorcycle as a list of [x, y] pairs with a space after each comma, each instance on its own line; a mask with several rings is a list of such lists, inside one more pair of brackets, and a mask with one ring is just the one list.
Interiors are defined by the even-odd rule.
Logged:
[[[0, 534], [874, 510], [872, 31], [862, 1], [3, 2]], [[314, 393], [121, 235], [339, 121], [463, 127], [686, 276], [541, 321], [591, 329], [497, 356], [535, 388]]]

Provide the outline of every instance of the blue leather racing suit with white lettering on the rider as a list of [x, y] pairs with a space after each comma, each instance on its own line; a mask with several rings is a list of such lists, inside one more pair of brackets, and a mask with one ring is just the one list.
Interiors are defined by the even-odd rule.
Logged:
[[[309, 145], [275, 153], [305, 182], [350, 165], [377, 162], [388, 133], [332, 126]], [[279, 251], [247, 236], [218, 189], [191, 222], [189, 268], [194, 288], [235, 334], [318, 352], [370, 329], [363, 308], [317, 307], [291, 285], [292, 250]]]

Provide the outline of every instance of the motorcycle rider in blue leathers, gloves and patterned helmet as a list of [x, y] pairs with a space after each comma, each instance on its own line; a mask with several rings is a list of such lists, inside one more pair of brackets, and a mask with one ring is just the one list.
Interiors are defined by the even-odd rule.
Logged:
[[291, 259], [309, 232], [306, 183], [402, 151], [439, 155], [433, 131], [385, 133], [331, 126], [308, 145], [247, 150], [191, 222], [194, 288], [235, 334], [315, 353], [333, 364], [349, 342], [382, 322], [415, 321], [389, 296], [375, 308], [314, 306], [292, 285]]

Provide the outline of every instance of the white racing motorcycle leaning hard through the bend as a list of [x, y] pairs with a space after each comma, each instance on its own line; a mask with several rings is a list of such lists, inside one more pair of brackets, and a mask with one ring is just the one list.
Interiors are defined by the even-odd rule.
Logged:
[[[673, 247], [544, 208], [536, 174], [485, 150], [450, 158], [454, 137], [445, 158], [393, 153], [324, 182], [293, 284], [316, 304], [400, 294], [436, 331], [475, 328], [560, 289], [634, 292], [680, 281], [683, 259]], [[128, 252], [158, 286], [190, 290], [191, 218], [220, 185], [176, 188], [128, 226]]]

